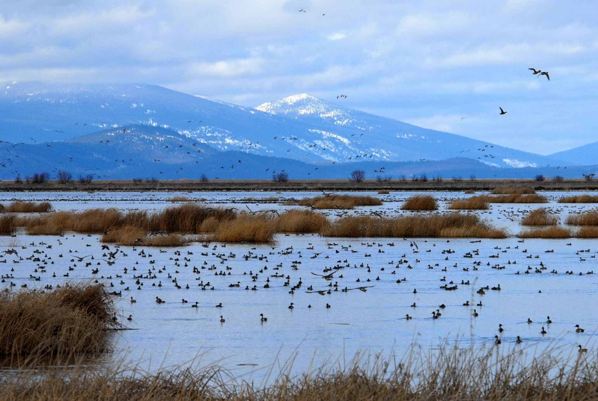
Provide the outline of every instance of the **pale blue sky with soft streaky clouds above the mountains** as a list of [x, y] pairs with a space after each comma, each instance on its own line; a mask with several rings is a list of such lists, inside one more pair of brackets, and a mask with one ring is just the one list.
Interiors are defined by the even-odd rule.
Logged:
[[541, 0], [6, 0], [0, 82], [147, 83], [253, 107], [309, 93], [546, 155], [598, 140], [597, 11]]

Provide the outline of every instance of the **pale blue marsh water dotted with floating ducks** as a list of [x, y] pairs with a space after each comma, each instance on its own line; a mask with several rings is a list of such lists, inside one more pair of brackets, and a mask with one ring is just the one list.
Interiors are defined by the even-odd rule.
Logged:
[[[414, 213], [400, 210], [402, 201], [414, 194], [370, 193], [380, 197], [383, 205], [357, 207], [348, 215], [367, 215], [371, 210], [389, 216]], [[469, 196], [456, 192], [432, 194], [441, 204], [440, 211], [434, 213], [443, 213], [451, 199]], [[524, 229], [519, 219], [530, 210], [547, 207], [564, 222], [568, 213], [593, 207], [556, 203], [565, 194], [578, 193], [548, 192], [544, 194], [550, 200], [548, 204], [492, 204], [490, 210], [469, 212], [507, 227], [512, 237], [502, 240], [278, 234], [272, 244], [121, 246], [116, 262], [107, 265], [100, 235], [71, 232], [61, 237], [29, 236], [19, 232], [16, 237], [0, 237], [3, 249], [14, 247], [23, 258], [14, 263], [16, 257], [5, 255], [7, 263], [0, 264], [0, 272], [10, 278], [5, 278], [2, 286], [13, 282], [16, 288], [22, 284], [42, 288], [67, 280], [97, 279], [110, 291], [121, 292], [115, 297], [117, 306], [124, 317], [132, 315], [132, 321], [123, 323], [134, 330], [114, 334], [115, 352], [110, 357], [125, 357], [149, 370], [218, 363], [235, 374], [246, 375], [246, 379], [260, 380], [266, 375], [260, 368], [276, 360], [285, 362], [289, 357], [293, 357], [292, 370], [303, 372], [310, 365], [350, 359], [357, 351], [393, 351], [401, 356], [411, 347], [433, 350], [457, 339], [462, 347], [492, 347], [495, 335], [502, 339], [500, 347], [509, 349], [517, 346], [514, 341], [520, 336], [521, 345], [536, 351], [555, 345], [574, 350], [578, 344], [591, 347], [598, 327], [593, 309], [598, 277], [588, 274], [598, 271], [594, 258], [598, 240], [523, 241], [516, 237]], [[185, 196], [203, 204], [256, 211], [296, 208], [282, 203], [315, 195], [320, 194], [19, 192], [1, 194], [0, 202], [47, 200], [54, 210], [159, 210], [172, 206], [167, 199]], [[335, 216], [333, 211], [327, 214]], [[116, 248], [108, 246], [110, 250]], [[72, 255], [90, 256], [78, 262]], [[86, 267], [86, 262], [91, 266]], [[312, 274], [329, 274], [330, 268], [338, 266], [342, 268], [329, 281]], [[41, 267], [45, 273], [40, 273]], [[194, 267], [198, 273], [193, 272]], [[99, 268], [99, 273], [92, 274], [94, 268]], [[551, 273], [553, 270], [558, 273]], [[520, 274], [515, 274], [517, 271]], [[69, 276], [63, 277], [67, 273]], [[34, 281], [30, 275], [41, 280]], [[137, 284], [133, 275], [144, 278], [139, 278]], [[446, 281], [441, 281], [444, 278]], [[301, 287], [289, 293], [299, 281]], [[457, 284], [456, 290], [440, 288], [453, 285], [451, 281]], [[264, 288], [266, 284], [269, 288]], [[355, 289], [362, 286], [371, 287], [365, 292]], [[500, 286], [501, 290], [477, 293], [486, 286]], [[308, 287], [330, 293], [307, 293]], [[346, 287], [354, 290], [344, 292]], [[130, 302], [131, 297], [135, 303]], [[156, 297], [165, 302], [158, 304]], [[182, 299], [188, 302], [182, 303]], [[191, 307], [195, 302], [198, 307]], [[294, 308], [289, 309], [291, 302]], [[471, 306], [464, 306], [466, 302]], [[483, 306], [476, 306], [480, 302]], [[216, 307], [219, 303], [221, 308]], [[446, 308], [440, 308], [441, 304]], [[432, 311], [437, 310], [441, 317], [433, 319]], [[260, 314], [267, 317], [267, 322], [261, 322]], [[413, 319], [405, 319], [406, 314]], [[545, 323], [548, 316], [550, 324]], [[527, 323], [528, 319], [533, 323]], [[504, 327], [502, 333], [499, 324]], [[576, 333], [575, 325], [585, 332]], [[541, 334], [542, 327], [546, 334]]]

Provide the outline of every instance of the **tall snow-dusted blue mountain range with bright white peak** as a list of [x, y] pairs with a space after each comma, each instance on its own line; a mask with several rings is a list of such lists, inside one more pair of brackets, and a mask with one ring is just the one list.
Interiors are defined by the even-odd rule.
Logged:
[[[133, 124], [172, 130], [215, 151], [318, 166], [455, 157], [501, 168], [565, 164], [556, 157], [417, 127], [343, 108], [340, 100], [330, 103], [307, 94], [254, 109], [145, 84], [11, 82], [2, 87], [0, 139], [10, 142], [54, 144]], [[148, 160], [167, 158], [163, 152], [152, 154], [150, 149], [157, 148], [144, 154]]]

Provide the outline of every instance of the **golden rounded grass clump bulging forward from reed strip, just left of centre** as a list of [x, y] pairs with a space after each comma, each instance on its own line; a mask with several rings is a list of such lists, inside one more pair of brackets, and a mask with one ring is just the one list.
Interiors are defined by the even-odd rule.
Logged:
[[271, 242], [276, 228], [266, 215], [240, 215], [233, 220], [221, 221], [209, 238], [220, 242]]

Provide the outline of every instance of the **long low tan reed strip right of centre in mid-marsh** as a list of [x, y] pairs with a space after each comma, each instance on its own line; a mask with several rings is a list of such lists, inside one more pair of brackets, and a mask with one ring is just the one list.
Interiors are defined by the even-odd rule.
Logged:
[[447, 237], [506, 238], [508, 232], [481, 221], [476, 215], [345, 217], [321, 232], [326, 237]]

